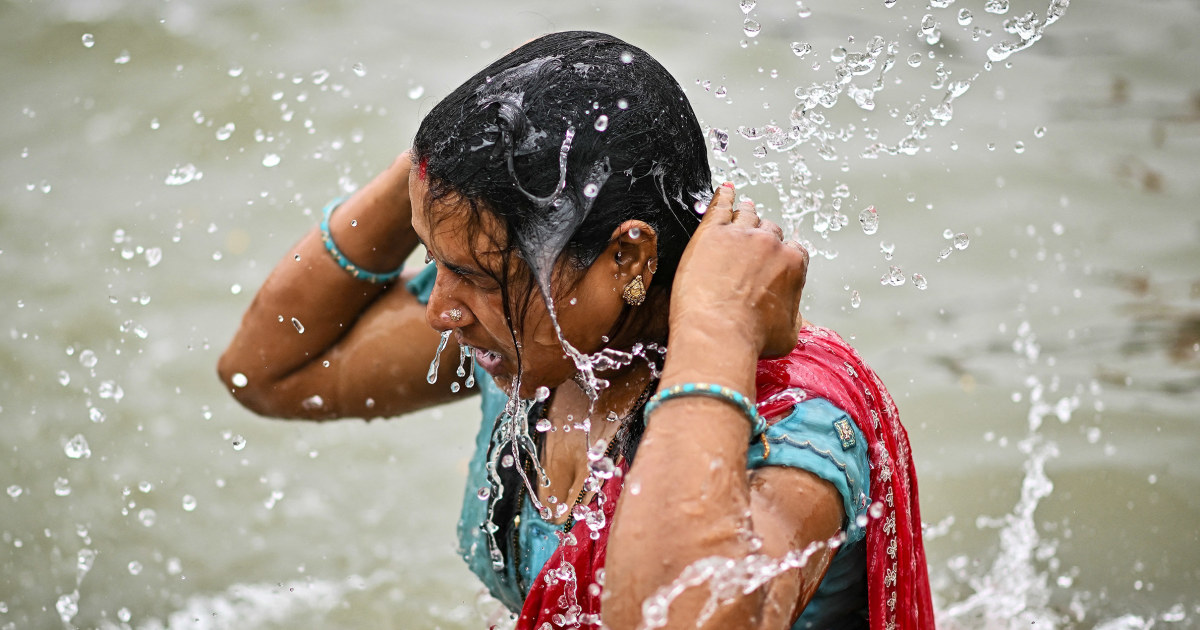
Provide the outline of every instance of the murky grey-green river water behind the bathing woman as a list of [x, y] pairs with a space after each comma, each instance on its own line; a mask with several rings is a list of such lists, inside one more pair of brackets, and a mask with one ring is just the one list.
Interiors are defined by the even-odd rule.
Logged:
[[[776, 216], [767, 162], [799, 186], [738, 127], [896, 42], [875, 109], [817, 109], [798, 235], [806, 316], [910, 428], [940, 625], [1200, 626], [1200, 6], [1076, 0], [989, 70], [1048, 0], [947, 4], [0, 2], [0, 628], [485, 624], [452, 534], [476, 407], [264, 420], [214, 366], [326, 199], [572, 28], [658, 56]], [[953, 119], [863, 157], [938, 64]]]

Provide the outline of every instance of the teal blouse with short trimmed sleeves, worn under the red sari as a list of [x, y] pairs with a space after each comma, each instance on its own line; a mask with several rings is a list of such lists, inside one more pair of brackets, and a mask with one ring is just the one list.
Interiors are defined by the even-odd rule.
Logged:
[[[422, 302], [428, 300], [433, 289], [436, 269], [430, 265], [408, 283], [408, 290]], [[520, 611], [526, 592], [518, 584], [532, 584], [541, 572], [558, 546], [554, 534], [558, 527], [538, 516], [527, 497], [521, 506], [517, 529], [521, 557], [516, 562], [506, 562], [503, 569], [492, 566], [482, 529], [487, 521], [487, 500], [480, 499], [480, 490], [491, 487], [485, 463], [492, 430], [496, 419], [504, 413], [508, 394], [478, 367], [475, 383], [482, 414], [475, 436], [475, 454], [467, 467], [467, 487], [458, 518], [458, 553], [492, 596], [510, 610]], [[844, 422], [848, 422], [853, 432], [852, 440], [844, 440], [838, 432], [838, 425]], [[762, 440], [751, 443], [746, 457], [749, 468], [788, 466], [808, 470], [838, 488], [845, 510], [842, 529], [846, 541], [834, 554], [829, 570], [793, 630], [866, 628], [865, 532], [858, 526], [859, 521], [865, 522], [870, 505], [866, 439], [845, 412], [824, 398], [799, 402], [791, 414], [767, 428], [766, 438], [770, 444], [769, 454]]]

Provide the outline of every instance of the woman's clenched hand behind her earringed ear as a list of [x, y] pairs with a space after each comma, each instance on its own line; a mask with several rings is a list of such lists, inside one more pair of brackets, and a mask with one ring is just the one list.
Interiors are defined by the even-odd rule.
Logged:
[[743, 334], [755, 356], [786, 355], [803, 318], [809, 253], [764, 220], [750, 202], [734, 205], [733, 185], [716, 190], [691, 238], [671, 293], [671, 336], [697, 330], [714, 338]]

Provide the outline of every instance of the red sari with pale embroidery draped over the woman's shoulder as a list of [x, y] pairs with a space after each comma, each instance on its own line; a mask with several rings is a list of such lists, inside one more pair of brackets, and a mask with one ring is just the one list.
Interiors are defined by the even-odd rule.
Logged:
[[[871, 630], [924, 630], [934, 628], [925, 547], [917, 503], [917, 470], [908, 434], [900, 425], [892, 396], [883, 383], [836, 332], [805, 326], [796, 349], [782, 359], [758, 361], [757, 400], [768, 401], [782, 390], [799, 388], [821, 397], [854, 420], [869, 443], [871, 494], [866, 524], [866, 592]], [[766, 418], [781, 419], [792, 409], [786, 396], [760, 406]], [[622, 473], [628, 472], [624, 462]], [[571, 529], [575, 545], [559, 545], [530, 587], [518, 629], [587, 628], [599, 625], [601, 584], [608, 527], [617, 509], [624, 475], [613, 475], [593, 499], [602, 510], [605, 527], [593, 540], [578, 522]], [[599, 508], [596, 506], [599, 504]], [[550, 624], [548, 626], [544, 624]]]

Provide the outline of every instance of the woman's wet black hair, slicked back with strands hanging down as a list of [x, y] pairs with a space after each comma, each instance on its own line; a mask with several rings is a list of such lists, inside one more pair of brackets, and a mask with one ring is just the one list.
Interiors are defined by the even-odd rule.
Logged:
[[[498, 59], [430, 110], [413, 152], [428, 184], [426, 205], [418, 211], [428, 215], [439, 200], [467, 202], [468, 238], [482, 233], [484, 212], [504, 226], [503, 241], [490, 235], [505, 252], [503, 268], [492, 272], [514, 341], [534, 288], [554, 298], [556, 266], [568, 262], [569, 269], [587, 269], [629, 220], [646, 222], [658, 235], [647, 306], [665, 307], [700, 223], [697, 202], [707, 205], [712, 197], [704, 136], [678, 82], [641, 48], [600, 32], [550, 34]], [[509, 287], [521, 277], [514, 270], [527, 271], [524, 286]], [[541, 408], [521, 419], [539, 442], [542, 434], [532, 425]], [[497, 426], [502, 421], [503, 414]], [[631, 461], [640, 414], [628, 425], [622, 452]], [[491, 448], [500, 445], [493, 440]], [[487, 538], [504, 556], [516, 552], [517, 467], [532, 474], [532, 463], [522, 452], [520, 462], [497, 470], [492, 522], [498, 529]]]

